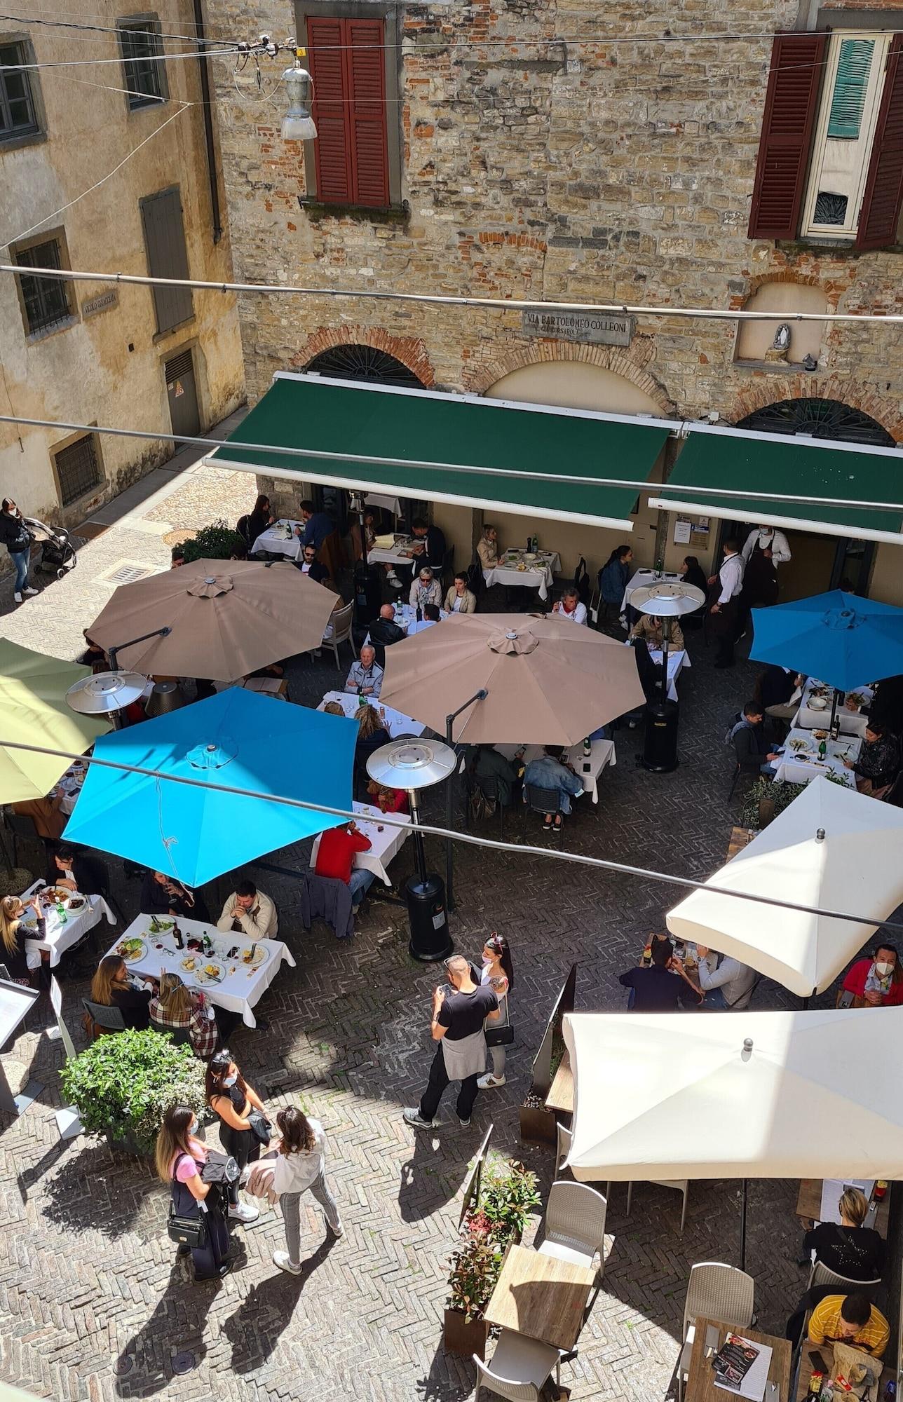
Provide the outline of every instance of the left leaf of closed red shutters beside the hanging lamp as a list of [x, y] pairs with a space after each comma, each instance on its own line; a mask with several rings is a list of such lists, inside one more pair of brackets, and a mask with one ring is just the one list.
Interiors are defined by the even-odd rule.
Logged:
[[353, 203], [351, 109], [345, 101], [345, 22], [314, 17], [307, 20], [310, 76], [314, 80], [311, 116], [317, 123], [317, 198], [328, 205]]

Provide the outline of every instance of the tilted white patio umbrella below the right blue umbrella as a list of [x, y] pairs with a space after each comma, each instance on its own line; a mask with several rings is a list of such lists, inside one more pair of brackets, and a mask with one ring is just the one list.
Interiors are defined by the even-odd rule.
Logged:
[[[704, 890], [674, 906], [667, 928], [808, 998], [829, 988], [875, 925], [903, 903], [902, 852], [903, 810], [819, 777]], [[770, 908], [724, 890], [872, 918]]]

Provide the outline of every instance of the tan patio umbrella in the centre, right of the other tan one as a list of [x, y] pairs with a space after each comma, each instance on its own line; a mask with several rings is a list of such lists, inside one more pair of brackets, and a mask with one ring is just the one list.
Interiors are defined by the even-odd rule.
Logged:
[[380, 701], [466, 744], [576, 744], [644, 705], [632, 648], [551, 615], [452, 614], [386, 649]]

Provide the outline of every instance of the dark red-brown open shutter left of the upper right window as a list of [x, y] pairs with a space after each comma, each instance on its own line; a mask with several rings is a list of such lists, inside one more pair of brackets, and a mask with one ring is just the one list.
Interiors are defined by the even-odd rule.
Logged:
[[761, 118], [750, 238], [795, 238], [806, 188], [826, 34], [780, 34]]

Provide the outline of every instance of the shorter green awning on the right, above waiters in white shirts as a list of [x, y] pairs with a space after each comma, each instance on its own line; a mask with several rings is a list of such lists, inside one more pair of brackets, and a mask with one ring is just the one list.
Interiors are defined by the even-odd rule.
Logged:
[[[693, 488], [674, 492], [674, 486]], [[724, 496], [718, 488], [764, 496]], [[781, 501], [810, 498], [809, 502]], [[868, 502], [830, 506], [829, 499]], [[893, 447], [816, 443], [812, 439], [691, 429], [653, 506], [684, 515], [768, 522], [815, 531], [902, 544], [903, 454]]]

